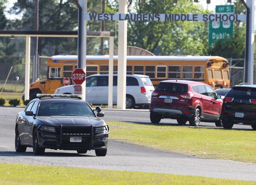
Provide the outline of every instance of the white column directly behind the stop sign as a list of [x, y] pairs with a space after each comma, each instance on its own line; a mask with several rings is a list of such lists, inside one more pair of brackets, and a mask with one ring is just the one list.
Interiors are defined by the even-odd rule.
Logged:
[[[87, 0], [79, 0], [79, 4], [82, 7], [82, 44], [81, 44], [81, 68], [86, 72], [86, 35], [87, 35], [87, 21], [84, 20], [84, 14], [87, 13]], [[86, 82], [81, 85], [82, 86], [82, 99], [85, 100], [85, 86]]]

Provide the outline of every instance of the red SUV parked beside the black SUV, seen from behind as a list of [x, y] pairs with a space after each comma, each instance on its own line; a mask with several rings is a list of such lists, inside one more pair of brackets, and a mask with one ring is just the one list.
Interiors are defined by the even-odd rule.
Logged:
[[207, 84], [186, 80], [161, 81], [151, 96], [150, 120], [177, 119], [179, 125], [189, 121], [198, 126], [200, 121], [215, 122], [221, 127], [221, 96]]

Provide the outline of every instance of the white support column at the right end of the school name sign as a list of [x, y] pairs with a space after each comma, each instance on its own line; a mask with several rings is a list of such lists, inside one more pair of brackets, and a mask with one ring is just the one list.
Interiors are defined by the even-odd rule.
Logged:
[[254, 44], [254, 0], [246, 1], [250, 8], [250, 28], [249, 28], [249, 47], [248, 47], [248, 75], [247, 82], [253, 84], [253, 44]]

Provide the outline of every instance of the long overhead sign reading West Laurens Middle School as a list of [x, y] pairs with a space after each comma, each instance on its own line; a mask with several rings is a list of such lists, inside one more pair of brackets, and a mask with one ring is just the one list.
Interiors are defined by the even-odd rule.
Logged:
[[84, 20], [246, 21], [244, 14], [84, 14]]

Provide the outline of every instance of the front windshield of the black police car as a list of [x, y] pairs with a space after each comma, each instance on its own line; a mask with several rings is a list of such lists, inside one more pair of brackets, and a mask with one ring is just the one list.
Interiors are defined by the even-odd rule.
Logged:
[[41, 101], [38, 116], [96, 117], [85, 102], [78, 101]]

